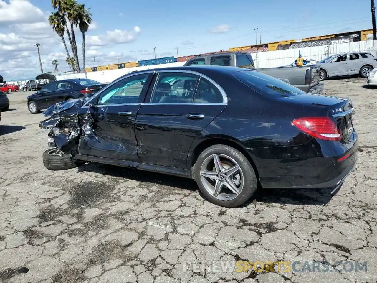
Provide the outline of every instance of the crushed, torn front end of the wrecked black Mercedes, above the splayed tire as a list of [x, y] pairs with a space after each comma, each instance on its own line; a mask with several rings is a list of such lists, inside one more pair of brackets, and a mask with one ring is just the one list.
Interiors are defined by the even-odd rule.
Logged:
[[58, 148], [60, 154], [76, 153], [83, 131], [79, 123], [78, 112], [85, 102], [86, 99], [70, 99], [52, 105], [43, 112], [43, 115], [49, 118], [41, 121], [39, 127], [48, 131], [48, 146], [50, 148]]

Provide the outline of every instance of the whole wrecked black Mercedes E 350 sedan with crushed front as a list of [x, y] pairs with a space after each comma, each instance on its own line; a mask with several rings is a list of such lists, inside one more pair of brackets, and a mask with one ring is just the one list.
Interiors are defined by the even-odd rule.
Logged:
[[44, 112], [46, 168], [93, 161], [193, 178], [211, 202], [261, 188], [336, 191], [357, 160], [351, 100], [243, 68], [132, 72]]

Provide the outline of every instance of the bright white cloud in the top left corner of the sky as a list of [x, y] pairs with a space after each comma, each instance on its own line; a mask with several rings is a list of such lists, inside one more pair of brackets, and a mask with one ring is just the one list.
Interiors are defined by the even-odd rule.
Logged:
[[41, 9], [26, 0], [0, 0], [0, 25], [3, 23], [35, 23], [43, 20]]

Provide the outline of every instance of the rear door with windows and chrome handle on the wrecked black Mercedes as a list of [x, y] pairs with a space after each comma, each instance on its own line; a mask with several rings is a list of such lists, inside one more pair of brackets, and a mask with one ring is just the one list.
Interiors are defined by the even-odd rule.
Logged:
[[154, 81], [136, 116], [140, 162], [185, 169], [194, 139], [225, 109], [225, 92], [193, 72], [159, 71]]

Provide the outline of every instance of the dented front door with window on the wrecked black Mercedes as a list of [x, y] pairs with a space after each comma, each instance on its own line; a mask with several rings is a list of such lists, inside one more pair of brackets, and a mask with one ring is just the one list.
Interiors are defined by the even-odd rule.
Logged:
[[83, 134], [79, 153], [117, 161], [138, 162], [135, 117], [144, 100], [151, 72], [116, 81], [95, 97], [93, 106], [80, 109], [83, 121], [89, 111], [92, 134]]

